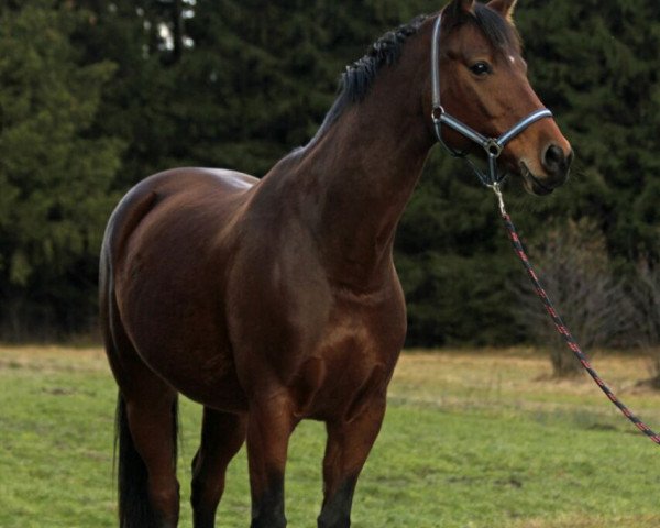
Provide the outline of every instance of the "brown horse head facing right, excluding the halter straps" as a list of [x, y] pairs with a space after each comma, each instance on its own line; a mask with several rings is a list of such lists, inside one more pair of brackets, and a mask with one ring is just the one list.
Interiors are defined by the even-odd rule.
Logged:
[[[439, 80], [433, 112], [447, 112], [483, 139], [502, 138], [543, 109], [527, 78], [513, 19], [515, 6], [516, 0], [487, 4], [452, 0], [437, 24]], [[541, 116], [546, 117], [551, 117], [549, 111]], [[438, 135], [453, 152], [470, 150], [477, 141], [452, 127], [442, 127]], [[484, 148], [487, 156], [488, 148]], [[519, 175], [525, 188], [535, 195], [550, 194], [562, 185], [572, 160], [571, 145], [554, 120], [538, 117], [497, 152], [497, 164]]]

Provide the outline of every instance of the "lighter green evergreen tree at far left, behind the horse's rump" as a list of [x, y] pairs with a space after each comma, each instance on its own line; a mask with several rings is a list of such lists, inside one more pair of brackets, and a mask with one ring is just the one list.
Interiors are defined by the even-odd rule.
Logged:
[[113, 65], [78, 67], [69, 36], [81, 23], [52, 0], [1, 12], [0, 320], [13, 333], [76, 328], [94, 306], [121, 142], [88, 134]]

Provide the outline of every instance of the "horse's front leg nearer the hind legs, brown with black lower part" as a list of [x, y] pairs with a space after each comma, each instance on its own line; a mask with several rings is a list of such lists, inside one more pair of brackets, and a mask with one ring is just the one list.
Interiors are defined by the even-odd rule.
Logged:
[[289, 437], [295, 428], [288, 398], [251, 402], [248, 461], [252, 493], [251, 528], [285, 528], [284, 472]]

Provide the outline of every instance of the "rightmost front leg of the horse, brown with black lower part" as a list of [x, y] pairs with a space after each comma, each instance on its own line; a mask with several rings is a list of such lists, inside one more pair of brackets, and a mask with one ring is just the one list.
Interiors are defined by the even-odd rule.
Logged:
[[378, 395], [350, 421], [328, 422], [323, 459], [323, 507], [319, 528], [349, 528], [360, 472], [378, 436], [385, 416], [385, 396]]

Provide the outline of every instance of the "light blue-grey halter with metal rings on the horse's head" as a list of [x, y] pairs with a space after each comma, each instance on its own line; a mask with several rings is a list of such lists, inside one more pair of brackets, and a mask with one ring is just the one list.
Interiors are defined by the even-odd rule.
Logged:
[[[475, 130], [468, 127], [465, 123], [462, 123], [458, 119], [453, 118], [449, 113], [444, 111], [440, 100], [440, 34], [442, 30], [442, 13], [438, 15], [436, 20], [436, 26], [433, 29], [433, 43], [431, 48], [431, 79], [432, 79], [432, 90], [433, 90], [433, 127], [436, 129], [436, 135], [438, 136], [438, 141], [449, 151], [449, 153], [454, 157], [464, 158], [472, 167], [479, 179], [487, 186], [487, 187], [498, 187], [499, 184], [506, 177], [506, 174], [498, 174], [497, 170], [497, 158], [502, 154], [502, 151], [506, 146], [506, 144], [522, 133], [530, 124], [536, 123], [537, 121], [543, 118], [552, 118], [552, 112], [547, 108], [537, 110], [530, 113], [525, 119], [520, 120], [516, 125], [509, 129], [507, 132], [502, 134], [499, 138], [486, 138], [485, 135], [480, 134]], [[450, 129], [455, 130], [460, 134], [464, 135], [469, 140], [473, 141], [477, 145], [480, 145], [487, 155], [488, 158], [488, 173], [484, 173], [480, 168], [472, 163], [472, 161], [468, 157], [468, 151], [457, 151], [449, 146], [444, 140], [442, 139], [442, 125], [447, 125]]]

